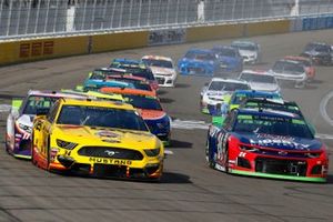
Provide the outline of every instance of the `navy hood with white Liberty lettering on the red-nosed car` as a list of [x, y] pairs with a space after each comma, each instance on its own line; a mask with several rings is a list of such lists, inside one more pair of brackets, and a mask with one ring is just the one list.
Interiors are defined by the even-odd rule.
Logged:
[[282, 137], [264, 133], [236, 133], [241, 143], [285, 151], [319, 151], [322, 143], [315, 139]]

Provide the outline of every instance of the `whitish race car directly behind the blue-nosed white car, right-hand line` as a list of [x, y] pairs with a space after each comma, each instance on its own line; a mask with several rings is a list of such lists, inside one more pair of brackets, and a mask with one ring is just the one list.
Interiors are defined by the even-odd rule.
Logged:
[[239, 79], [249, 82], [251, 89], [255, 91], [280, 92], [281, 90], [275, 77], [266, 71], [243, 70]]

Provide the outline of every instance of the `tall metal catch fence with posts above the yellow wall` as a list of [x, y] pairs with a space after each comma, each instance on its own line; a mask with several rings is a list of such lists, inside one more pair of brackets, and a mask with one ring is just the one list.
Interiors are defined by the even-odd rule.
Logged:
[[333, 13], [333, 0], [0, 0], [0, 40]]

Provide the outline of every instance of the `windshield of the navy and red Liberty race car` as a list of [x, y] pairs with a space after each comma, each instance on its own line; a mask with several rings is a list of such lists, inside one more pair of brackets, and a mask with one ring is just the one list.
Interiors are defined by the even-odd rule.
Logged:
[[239, 114], [233, 131], [313, 139], [304, 120], [289, 117]]

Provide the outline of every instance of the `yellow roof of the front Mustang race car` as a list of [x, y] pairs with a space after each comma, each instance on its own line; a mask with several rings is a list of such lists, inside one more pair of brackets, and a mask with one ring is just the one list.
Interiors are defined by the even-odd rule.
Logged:
[[60, 103], [68, 104], [68, 105], [103, 107], [103, 108], [115, 108], [115, 109], [124, 109], [124, 110], [135, 110], [133, 105], [124, 102], [119, 102], [119, 101], [62, 98], [60, 100]]

